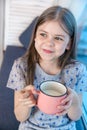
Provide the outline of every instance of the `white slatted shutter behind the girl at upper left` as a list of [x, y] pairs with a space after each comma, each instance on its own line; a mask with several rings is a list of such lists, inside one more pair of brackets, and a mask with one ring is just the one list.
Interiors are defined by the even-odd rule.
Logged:
[[7, 45], [19, 45], [19, 36], [31, 21], [52, 6], [54, 0], [6, 0], [5, 4], [5, 41]]

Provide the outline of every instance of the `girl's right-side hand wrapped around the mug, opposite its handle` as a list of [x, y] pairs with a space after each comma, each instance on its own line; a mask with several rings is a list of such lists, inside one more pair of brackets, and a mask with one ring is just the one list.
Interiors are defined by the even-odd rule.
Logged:
[[67, 97], [61, 101], [61, 105], [57, 106], [59, 110], [59, 112], [57, 113], [58, 116], [67, 114], [69, 108], [74, 103], [74, 94], [75, 92], [72, 89], [68, 88]]

